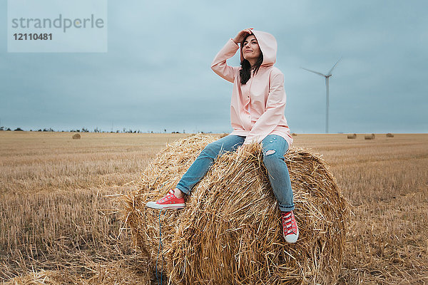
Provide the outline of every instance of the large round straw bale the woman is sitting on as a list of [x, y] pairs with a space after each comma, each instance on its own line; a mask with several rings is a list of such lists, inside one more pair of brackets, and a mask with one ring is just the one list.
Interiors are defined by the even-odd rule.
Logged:
[[[172, 284], [334, 284], [345, 247], [347, 203], [325, 162], [291, 148], [285, 157], [300, 229], [296, 244], [282, 237], [280, 210], [263, 167], [260, 144], [240, 147], [215, 161], [180, 210], [146, 208], [180, 180], [205, 145], [195, 135], [168, 145], [148, 165], [138, 190], [122, 197], [123, 220], [136, 244], [158, 256]], [[153, 262], [154, 264], [154, 262]]]

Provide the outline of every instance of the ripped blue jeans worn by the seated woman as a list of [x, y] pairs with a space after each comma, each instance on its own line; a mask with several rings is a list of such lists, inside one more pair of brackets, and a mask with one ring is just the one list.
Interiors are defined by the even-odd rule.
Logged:
[[[186, 195], [190, 195], [193, 186], [198, 183], [213, 165], [215, 158], [223, 155], [224, 152], [233, 152], [243, 145], [245, 137], [240, 135], [228, 135], [220, 140], [208, 144], [176, 186]], [[279, 135], [267, 135], [262, 141], [263, 163], [267, 169], [270, 185], [278, 200], [280, 210], [283, 212], [292, 211], [294, 203], [292, 201], [292, 189], [290, 174], [284, 161], [285, 152], [288, 150], [287, 140]]]

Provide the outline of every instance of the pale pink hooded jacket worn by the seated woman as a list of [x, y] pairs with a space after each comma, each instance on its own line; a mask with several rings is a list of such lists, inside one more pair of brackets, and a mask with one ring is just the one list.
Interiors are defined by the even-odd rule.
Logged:
[[[228, 66], [226, 60], [238, 51], [238, 44], [232, 38], [215, 56], [211, 69], [221, 78], [233, 83], [232, 100], [230, 103], [231, 135], [245, 136], [244, 144], [261, 142], [267, 135], [280, 135], [292, 144], [290, 128], [285, 120], [284, 75], [274, 67], [276, 61], [277, 42], [264, 31], [252, 30], [263, 53], [263, 63], [258, 73], [251, 73], [250, 80], [240, 83], [238, 66]], [[243, 61], [243, 51], [240, 48]]]

